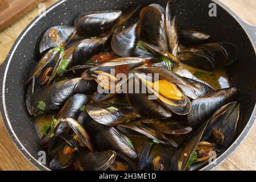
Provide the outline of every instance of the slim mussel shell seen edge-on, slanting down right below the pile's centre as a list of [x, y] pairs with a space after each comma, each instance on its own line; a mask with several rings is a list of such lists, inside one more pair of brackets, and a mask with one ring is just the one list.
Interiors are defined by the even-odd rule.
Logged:
[[146, 125], [143, 125], [141, 121], [131, 122], [127, 125], [118, 125], [117, 128], [120, 130], [130, 129], [130, 130], [136, 131], [139, 134], [145, 135], [148, 138], [157, 140], [160, 143], [165, 144], [166, 146], [170, 146], [172, 148], [177, 147], [177, 143], [174, 140], [167, 137], [165, 134], [160, 133], [160, 131], [158, 130], [155, 130]]

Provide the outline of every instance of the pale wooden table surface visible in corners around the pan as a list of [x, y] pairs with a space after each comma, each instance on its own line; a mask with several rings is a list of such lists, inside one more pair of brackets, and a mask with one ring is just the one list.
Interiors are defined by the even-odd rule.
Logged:
[[[47, 0], [46, 6], [57, 0]], [[221, 0], [228, 5], [245, 22], [256, 25], [256, 1], [253, 0]], [[5, 60], [11, 46], [20, 32], [38, 15], [36, 8], [24, 18], [14, 23], [5, 31], [0, 32], [0, 64]], [[2, 79], [2, 78], [0, 78]], [[256, 125], [242, 142], [241, 146], [216, 170], [256, 170]], [[0, 170], [36, 170], [18, 151], [9, 138], [0, 115]]]

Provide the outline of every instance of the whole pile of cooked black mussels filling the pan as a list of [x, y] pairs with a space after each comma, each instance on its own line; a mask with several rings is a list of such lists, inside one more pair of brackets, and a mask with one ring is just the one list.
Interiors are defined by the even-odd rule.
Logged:
[[[28, 112], [54, 117], [40, 140], [49, 167], [195, 170], [221, 155], [241, 118], [237, 89], [214, 90], [174, 71], [186, 64], [213, 72], [236, 61], [236, 45], [208, 43], [209, 38], [178, 27], [171, 2], [128, 13], [86, 12], [73, 26], [49, 28], [39, 42], [42, 58], [26, 83]], [[133, 77], [119, 81], [110, 69]], [[158, 73], [158, 81], [145, 73]], [[146, 92], [117, 92], [136, 82]], [[100, 93], [99, 86], [115, 91]]]

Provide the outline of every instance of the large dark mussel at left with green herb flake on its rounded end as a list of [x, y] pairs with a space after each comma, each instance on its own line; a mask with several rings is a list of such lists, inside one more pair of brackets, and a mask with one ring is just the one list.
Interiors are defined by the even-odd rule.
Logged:
[[36, 110], [49, 114], [59, 110], [72, 95], [77, 93], [91, 95], [96, 90], [96, 82], [73, 78], [36, 90], [32, 96], [31, 103]]

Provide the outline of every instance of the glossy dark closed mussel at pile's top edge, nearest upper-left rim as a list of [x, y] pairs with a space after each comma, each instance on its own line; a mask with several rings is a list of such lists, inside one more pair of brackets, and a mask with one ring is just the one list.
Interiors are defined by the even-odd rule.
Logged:
[[121, 15], [122, 11], [119, 10], [88, 12], [79, 18], [76, 25], [77, 33], [86, 38], [111, 33]]

